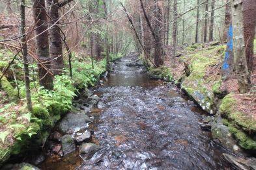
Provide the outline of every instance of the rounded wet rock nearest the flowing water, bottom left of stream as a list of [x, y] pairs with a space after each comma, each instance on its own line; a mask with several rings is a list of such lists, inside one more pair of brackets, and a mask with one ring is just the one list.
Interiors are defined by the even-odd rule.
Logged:
[[100, 149], [101, 147], [94, 143], [83, 143], [83, 145], [79, 147], [79, 154], [83, 159], [89, 159]]

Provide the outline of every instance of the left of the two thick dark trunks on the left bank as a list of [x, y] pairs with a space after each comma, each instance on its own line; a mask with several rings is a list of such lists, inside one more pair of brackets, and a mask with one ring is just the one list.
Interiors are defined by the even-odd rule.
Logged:
[[44, 0], [33, 0], [33, 16], [35, 19], [36, 55], [38, 56], [38, 79], [40, 86], [53, 89], [53, 76], [49, 53], [48, 27]]

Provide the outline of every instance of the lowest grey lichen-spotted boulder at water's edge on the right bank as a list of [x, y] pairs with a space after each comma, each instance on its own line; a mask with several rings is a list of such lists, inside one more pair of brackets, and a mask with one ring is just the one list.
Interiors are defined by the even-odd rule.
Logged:
[[214, 121], [212, 121], [211, 131], [212, 138], [219, 141], [221, 145], [223, 145], [227, 149], [230, 149], [231, 151], [235, 151], [236, 154], [240, 154], [240, 152], [242, 152], [240, 147], [236, 145], [236, 141], [232, 137], [232, 134], [229, 132], [229, 128], [223, 125], [220, 115], [217, 115]]

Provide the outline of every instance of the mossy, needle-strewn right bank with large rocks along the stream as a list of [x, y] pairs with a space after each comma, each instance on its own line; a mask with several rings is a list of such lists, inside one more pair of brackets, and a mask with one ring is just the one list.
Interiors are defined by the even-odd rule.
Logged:
[[236, 79], [221, 79], [225, 49], [225, 45], [218, 44], [191, 45], [178, 51], [175, 64], [170, 62], [171, 58], [166, 58], [165, 66], [149, 69], [149, 74], [153, 79], [174, 82], [213, 115], [214, 120], [208, 126], [216, 141], [237, 154], [246, 151], [255, 156], [256, 74], [252, 74], [251, 91], [238, 93]]

